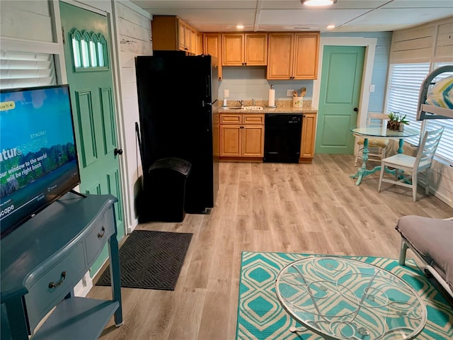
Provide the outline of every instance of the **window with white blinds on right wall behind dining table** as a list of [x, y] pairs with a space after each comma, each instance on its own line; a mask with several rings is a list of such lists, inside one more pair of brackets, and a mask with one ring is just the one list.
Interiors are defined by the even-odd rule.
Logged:
[[[435, 68], [443, 64], [435, 64]], [[410, 125], [414, 128], [421, 128], [420, 120], [416, 120], [418, 108], [418, 96], [420, 86], [425, 77], [430, 73], [430, 63], [424, 62], [419, 64], [392, 64], [389, 74], [389, 91], [386, 98], [386, 111], [398, 111], [406, 115]], [[446, 77], [442, 74], [438, 79]], [[427, 120], [426, 128], [434, 130], [444, 126], [445, 130], [437, 147], [436, 155], [447, 162], [453, 162], [453, 120]], [[406, 139], [412, 145], [418, 145], [419, 137]]]

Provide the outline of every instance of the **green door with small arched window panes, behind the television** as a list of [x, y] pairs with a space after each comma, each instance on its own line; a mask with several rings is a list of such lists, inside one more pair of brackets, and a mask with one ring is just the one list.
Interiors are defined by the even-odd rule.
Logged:
[[[105, 16], [59, 3], [64, 57], [71, 90], [81, 192], [111, 193], [118, 198], [115, 215], [118, 240], [125, 234], [117, 148], [115, 98], [110, 37]], [[91, 276], [107, 259], [107, 247], [91, 268]]]

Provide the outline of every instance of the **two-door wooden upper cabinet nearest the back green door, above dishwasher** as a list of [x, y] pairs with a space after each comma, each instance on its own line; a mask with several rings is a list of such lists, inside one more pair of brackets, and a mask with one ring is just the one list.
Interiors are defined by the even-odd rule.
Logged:
[[319, 33], [269, 33], [267, 79], [316, 79]]

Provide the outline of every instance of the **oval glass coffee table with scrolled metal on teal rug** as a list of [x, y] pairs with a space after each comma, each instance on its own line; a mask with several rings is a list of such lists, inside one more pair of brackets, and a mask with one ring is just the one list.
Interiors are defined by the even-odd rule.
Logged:
[[278, 274], [275, 291], [293, 319], [324, 339], [413, 339], [425, 327], [425, 303], [410, 285], [355, 259], [294, 261]]

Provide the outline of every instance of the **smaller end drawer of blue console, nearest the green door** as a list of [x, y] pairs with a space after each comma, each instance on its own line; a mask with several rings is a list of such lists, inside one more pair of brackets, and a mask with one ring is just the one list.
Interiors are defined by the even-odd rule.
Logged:
[[105, 240], [114, 233], [113, 208], [109, 208], [104, 215], [99, 217], [96, 226], [92, 228], [90, 234], [86, 237], [86, 261], [88, 266], [91, 266], [91, 262], [101, 253]]

